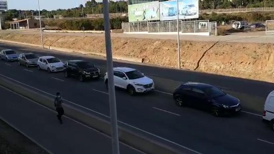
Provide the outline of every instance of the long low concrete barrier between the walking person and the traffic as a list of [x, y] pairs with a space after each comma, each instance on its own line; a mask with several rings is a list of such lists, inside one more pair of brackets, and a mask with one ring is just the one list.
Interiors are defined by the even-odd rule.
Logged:
[[[41, 105], [49, 107], [50, 109], [55, 110], [53, 102], [53, 97], [48, 97], [42, 95], [41, 93], [26, 88], [25, 86], [21, 86], [17, 83], [14, 83], [6, 78], [0, 77], [0, 85], [4, 86], [18, 94], [25, 96]], [[68, 105], [64, 103], [63, 105], [65, 110], [65, 115], [69, 116], [83, 124], [86, 124], [89, 127], [95, 128], [102, 133], [107, 135], [111, 134], [111, 126], [109, 122], [109, 118], [103, 119], [100, 118], [99, 115], [96, 116], [96, 113], [90, 114], [83, 110], [73, 107], [72, 105]], [[135, 131], [130, 130], [128, 128], [122, 127], [119, 125], [118, 128], [119, 133], [119, 140], [128, 144], [140, 151], [145, 153], [152, 153], [152, 154], [175, 154], [175, 153], [184, 153], [175, 150], [172, 147], [169, 147], [163, 143], [160, 143], [156, 140], [146, 137], [140, 133], [135, 133]], [[136, 130], [137, 131], [137, 130]]]

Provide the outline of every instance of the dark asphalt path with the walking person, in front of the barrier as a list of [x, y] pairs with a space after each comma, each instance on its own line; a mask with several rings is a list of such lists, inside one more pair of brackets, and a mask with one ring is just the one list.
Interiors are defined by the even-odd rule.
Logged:
[[[0, 118], [49, 153], [112, 153], [111, 137], [64, 116], [64, 124], [60, 125], [55, 111], [2, 86], [0, 94]], [[120, 153], [143, 152], [120, 143]]]

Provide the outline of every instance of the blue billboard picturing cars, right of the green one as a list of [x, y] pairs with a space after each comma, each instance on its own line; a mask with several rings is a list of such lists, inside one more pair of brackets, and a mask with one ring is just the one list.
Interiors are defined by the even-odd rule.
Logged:
[[[160, 2], [160, 20], [177, 19], [177, 0]], [[198, 0], [178, 0], [179, 19], [192, 19], [199, 17]]]

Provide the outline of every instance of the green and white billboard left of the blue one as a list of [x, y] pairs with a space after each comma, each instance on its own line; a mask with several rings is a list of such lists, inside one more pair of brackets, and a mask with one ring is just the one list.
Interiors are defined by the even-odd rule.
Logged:
[[129, 22], [159, 20], [159, 1], [128, 6]]

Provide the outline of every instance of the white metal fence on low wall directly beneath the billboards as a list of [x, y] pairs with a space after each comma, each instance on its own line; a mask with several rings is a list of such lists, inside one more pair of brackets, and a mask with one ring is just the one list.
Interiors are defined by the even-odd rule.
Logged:
[[[210, 25], [209, 20], [179, 21], [179, 31], [182, 33], [209, 33]], [[126, 22], [122, 23], [122, 29], [124, 32], [177, 32], [177, 21]]]

